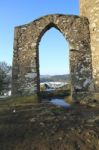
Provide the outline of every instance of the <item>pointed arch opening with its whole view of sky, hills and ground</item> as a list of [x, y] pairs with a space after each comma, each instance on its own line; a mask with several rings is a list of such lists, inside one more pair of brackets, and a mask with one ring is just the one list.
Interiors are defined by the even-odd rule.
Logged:
[[[65, 97], [71, 94], [69, 43], [51, 24], [39, 42], [40, 95]], [[48, 95], [47, 95], [48, 96]]]

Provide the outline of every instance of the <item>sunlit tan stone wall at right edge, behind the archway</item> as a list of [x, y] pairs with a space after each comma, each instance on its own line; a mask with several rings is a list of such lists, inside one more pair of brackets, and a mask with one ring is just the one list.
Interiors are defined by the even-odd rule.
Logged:
[[80, 14], [89, 19], [95, 92], [99, 92], [99, 0], [80, 0]]

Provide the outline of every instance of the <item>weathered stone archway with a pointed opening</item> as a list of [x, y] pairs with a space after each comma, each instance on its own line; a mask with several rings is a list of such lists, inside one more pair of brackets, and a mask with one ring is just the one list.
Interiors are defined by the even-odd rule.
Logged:
[[51, 27], [57, 28], [70, 45], [72, 96], [84, 98], [92, 82], [89, 22], [84, 17], [61, 14], [44, 16], [15, 28], [12, 94], [39, 92], [38, 45]]

